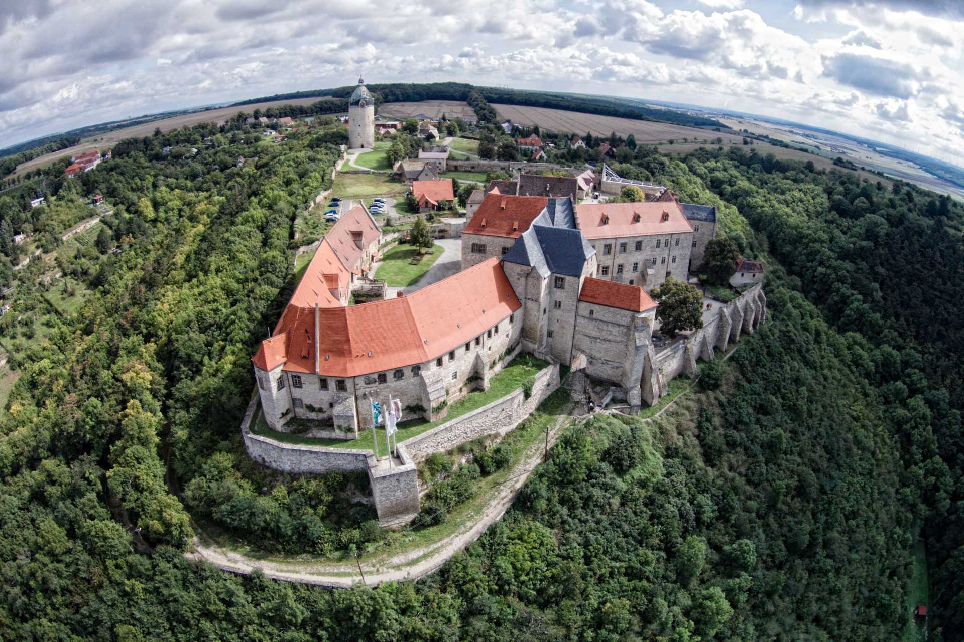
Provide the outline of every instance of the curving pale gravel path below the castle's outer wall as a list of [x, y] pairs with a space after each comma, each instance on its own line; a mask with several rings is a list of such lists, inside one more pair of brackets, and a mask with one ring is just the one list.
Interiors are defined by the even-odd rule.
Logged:
[[[571, 411], [572, 407], [567, 408], [564, 411], [566, 414], [552, 424], [549, 429], [549, 447], [555, 444], [565, 426], [572, 420]], [[542, 462], [545, 448], [545, 442], [537, 440], [526, 450], [522, 460], [513, 467], [507, 480], [496, 488], [495, 495], [482, 509], [478, 518], [464, 524], [441, 542], [412, 551], [399, 552], [388, 558], [365, 560], [362, 555], [359, 562], [365, 583], [374, 586], [385, 581], [416, 579], [438, 570], [452, 555], [469, 546], [502, 517], [515, 500], [516, 494], [529, 474]], [[347, 588], [362, 581], [355, 559], [343, 562], [262, 561], [238, 552], [230, 552], [209, 542], [201, 542], [199, 538], [195, 538], [191, 550], [185, 555], [191, 559], [214, 564], [224, 571], [242, 575], [248, 575], [254, 569], [260, 569], [267, 578], [332, 588]]]

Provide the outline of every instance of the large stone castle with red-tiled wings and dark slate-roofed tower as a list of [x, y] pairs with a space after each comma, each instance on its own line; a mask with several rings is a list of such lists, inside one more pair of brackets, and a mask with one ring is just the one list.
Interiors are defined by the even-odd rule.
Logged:
[[[699, 210], [706, 233], [697, 232], [685, 216], [694, 206], [665, 194], [574, 205], [568, 196], [495, 190], [465, 230], [462, 271], [410, 295], [349, 306], [351, 285], [382, 242], [357, 206], [325, 237], [254, 355], [265, 421], [286, 431], [292, 418], [313, 420], [327, 426], [324, 436], [354, 439], [371, 425], [369, 401], [388, 396], [401, 399], [405, 419], [438, 421], [451, 401], [487, 389], [502, 357], [520, 349], [584, 369], [620, 391], [632, 411], [654, 403], [666, 377], [656, 366], [656, 302], [646, 290], [684, 280], [691, 252], [702, 252], [715, 225]], [[749, 331], [762, 318], [758, 307]]]

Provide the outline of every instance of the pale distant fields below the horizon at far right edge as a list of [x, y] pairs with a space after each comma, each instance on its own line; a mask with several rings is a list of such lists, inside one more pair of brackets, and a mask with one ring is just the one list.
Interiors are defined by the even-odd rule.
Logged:
[[[895, 178], [919, 185], [924, 189], [964, 198], [964, 189], [933, 176], [926, 172], [923, 167], [886, 156], [868, 145], [851, 141], [843, 136], [818, 132], [803, 125], [783, 125], [752, 118], [719, 117], [718, 119], [720, 122], [736, 129], [746, 129], [754, 134], [765, 134], [792, 144], [812, 147], [818, 154], [830, 159], [842, 156], [858, 166], [883, 171]], [[816, 164], [817, 161], [814, 161], [814, 163]]]

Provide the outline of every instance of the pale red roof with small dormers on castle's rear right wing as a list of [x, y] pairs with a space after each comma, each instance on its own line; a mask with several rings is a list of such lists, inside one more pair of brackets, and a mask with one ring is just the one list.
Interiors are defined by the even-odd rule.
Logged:
[[[480, 208], [481, 209], [481, 208]], [[692, 232], [675, 201], [576, 205], [579, 230], [587, 239]]]

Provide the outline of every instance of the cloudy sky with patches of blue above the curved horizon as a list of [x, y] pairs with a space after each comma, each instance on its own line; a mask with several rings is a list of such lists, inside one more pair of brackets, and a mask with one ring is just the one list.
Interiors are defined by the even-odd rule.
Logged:
[[964, 165], [961, 4], [4, 1], [0, 146], [362, 73], [724, 107]]

